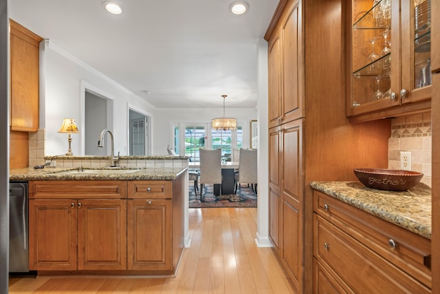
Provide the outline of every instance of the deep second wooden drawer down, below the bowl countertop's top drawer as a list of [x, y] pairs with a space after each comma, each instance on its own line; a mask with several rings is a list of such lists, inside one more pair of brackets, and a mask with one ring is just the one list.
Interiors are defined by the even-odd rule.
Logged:
[[314, 255], [355, 293], [430, 293], [430, 288], [316, 213]]

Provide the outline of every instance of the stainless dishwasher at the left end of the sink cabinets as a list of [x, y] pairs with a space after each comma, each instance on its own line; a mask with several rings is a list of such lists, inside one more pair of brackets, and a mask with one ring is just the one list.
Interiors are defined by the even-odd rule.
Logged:
[[29, 272], [28, 182], [9, 183], [9, 272]]

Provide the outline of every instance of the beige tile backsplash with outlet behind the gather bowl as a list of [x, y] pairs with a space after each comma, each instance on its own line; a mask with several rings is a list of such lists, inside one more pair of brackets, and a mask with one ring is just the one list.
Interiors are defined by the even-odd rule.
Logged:
[[430, 113], [393, 118], [388, 140], [388, 169], [400, 169], [400, 151], [411, 152], [410, 170], [423, 173], [421, 182], [431, 187]]

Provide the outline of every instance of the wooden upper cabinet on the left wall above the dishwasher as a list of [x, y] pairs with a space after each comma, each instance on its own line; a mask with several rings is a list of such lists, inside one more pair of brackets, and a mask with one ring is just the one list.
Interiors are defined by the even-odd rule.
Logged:
[[39, 129], [39, 43], [37, 36], [10, 19], [10, 129]]

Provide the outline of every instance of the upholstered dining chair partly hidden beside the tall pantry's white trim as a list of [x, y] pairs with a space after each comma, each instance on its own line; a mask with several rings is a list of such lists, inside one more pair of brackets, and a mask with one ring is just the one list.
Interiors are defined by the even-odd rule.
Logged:
[[239, 172], [235, 173], [235, 191], [239, 188], [239, 197], [241, 196], [241, 184], [250, 184], [255, 195], [258, 182], [257, 170], [257, 151], [256, 149], [240, 149]]

